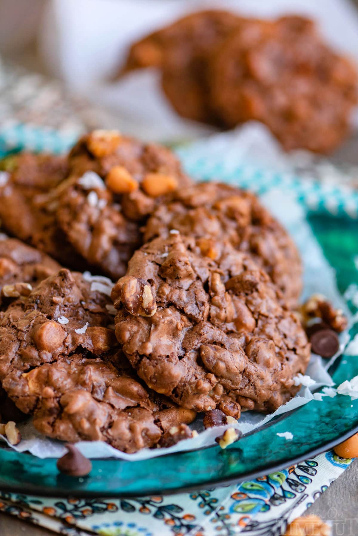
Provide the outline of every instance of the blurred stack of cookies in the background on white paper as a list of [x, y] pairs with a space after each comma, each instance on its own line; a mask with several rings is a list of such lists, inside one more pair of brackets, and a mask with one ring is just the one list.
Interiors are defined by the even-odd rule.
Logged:
[[179, 115], [219, 128], [261, 121], [286, 150], [333, 151], [358, 100], [356, 66], [302, 16], [192, 13], [134, 43], [120, 76], [148, 67]]

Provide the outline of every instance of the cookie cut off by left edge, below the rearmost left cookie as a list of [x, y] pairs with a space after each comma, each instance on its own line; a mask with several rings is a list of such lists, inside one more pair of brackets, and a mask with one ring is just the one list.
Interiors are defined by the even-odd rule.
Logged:
[[10, 301], [30, 294], [33, 287], [60, 268], [41, 251], [17, 239], [0, 236], [0, 311]]

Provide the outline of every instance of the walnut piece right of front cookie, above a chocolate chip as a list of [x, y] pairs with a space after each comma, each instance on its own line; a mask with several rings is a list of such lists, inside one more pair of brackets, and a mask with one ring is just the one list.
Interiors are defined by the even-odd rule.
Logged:
[[303, 323], [307, 323], [311, 318], [321, 318], [332, 330], [340, 333], [348, 325], [347, 318], [341, 309], [334, 309], [322, 294], [313, 294], [301, 307], [299, 311], [303, 317]]

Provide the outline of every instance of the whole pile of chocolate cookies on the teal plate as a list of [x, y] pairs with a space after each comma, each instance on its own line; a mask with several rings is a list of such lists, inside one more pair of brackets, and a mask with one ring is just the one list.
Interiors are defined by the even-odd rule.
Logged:
[[252, 193], [116, 131], [1, 166], [3, 422], [135, 452], [296, 394], [301, 263]]

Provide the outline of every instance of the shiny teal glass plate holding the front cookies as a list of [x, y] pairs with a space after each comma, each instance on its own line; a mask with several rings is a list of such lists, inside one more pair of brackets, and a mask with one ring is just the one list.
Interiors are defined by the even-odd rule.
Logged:
[[[341, 292], [357, 282], [358, 222], [312, 214], [313, 232], [337, 273]], [[352, 328], [354, 336], [355, 328]], [[358, 375], [358, 359], [341, 356], [330, 370], [335, 384]], [[287, 441], [277, 432], [291, 431]], [[0, 489], [49, 496], [141, 496], [215, 487], [279, 471], [340, 443], [358, 431], [358, 400], [337, 395], [312, 400], [254, 430], [226, 450], [211, 446], [147, 461], [92, 460], [83, 479], [65, 477], [55, 459], [0, 449]]]

